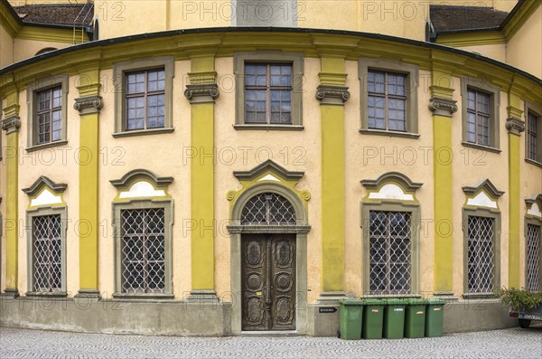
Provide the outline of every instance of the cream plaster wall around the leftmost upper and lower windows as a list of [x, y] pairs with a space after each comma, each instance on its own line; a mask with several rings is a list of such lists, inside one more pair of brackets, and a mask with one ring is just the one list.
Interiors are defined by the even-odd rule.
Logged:
[[[70, 78], [68, 90], [68, 113], [67, 133], [68, 144], [66, 146], [42, 149], [27, 153], [27, 94], [26, 90], [21, 92], [19, 100], [21, 103], [20, 117], [21, 128], [19, 129], [19, 282], [18, 288], [21, 293], [28, 290], [27, 287], [27, 250], [28, 231], [31, 223], [26, 222], [26, 209], [30, 204], [29, 198], [23, 194], [23, 188], [30, 187], [40, 175], [45, 175], [55, 183], [68, 184], [64, 191], [64, 201], [68, 203], [68, 231], [66, 233], [66, 289], [69, 297], [77, 294], [79, 290], [79, 112], [73, 109], [70, 104], [78, 96], [74, 80]], [[81, 219], [82, 220], [82, 219]], [[81, 230], [83, 227], [81, 226]]]

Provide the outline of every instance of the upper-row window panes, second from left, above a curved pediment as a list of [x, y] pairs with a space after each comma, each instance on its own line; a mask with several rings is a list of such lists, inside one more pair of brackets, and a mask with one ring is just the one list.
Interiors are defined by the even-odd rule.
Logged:
[[164, 128], [165, 71], [126, 73], [126, 130]]

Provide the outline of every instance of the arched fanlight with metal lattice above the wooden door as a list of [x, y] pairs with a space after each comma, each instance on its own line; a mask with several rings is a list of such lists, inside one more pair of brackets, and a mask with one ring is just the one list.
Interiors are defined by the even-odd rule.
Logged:
[[280, 194], [257, 194], [245, 204], [241, 224], [295, 224], [294, 206]]

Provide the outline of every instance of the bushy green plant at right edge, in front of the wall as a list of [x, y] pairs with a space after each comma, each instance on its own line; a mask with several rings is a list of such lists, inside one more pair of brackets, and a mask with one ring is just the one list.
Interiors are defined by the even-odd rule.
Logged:
[[531, 320], [542, 320], [542, 292], [501, 288], [496, 294], [502, 304], [509, 307], [509, 317], [517, 317], [522, 328], [528, 328]]

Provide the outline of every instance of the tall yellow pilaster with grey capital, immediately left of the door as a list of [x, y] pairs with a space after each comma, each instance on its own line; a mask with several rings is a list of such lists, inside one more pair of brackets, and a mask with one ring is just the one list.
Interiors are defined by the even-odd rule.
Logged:
[[192, 291], [189, 300], [216, 300], [214, 288], [214, 55], [192, 56], [190, 84], [184, 95], [192, 104], [191, 256]]

